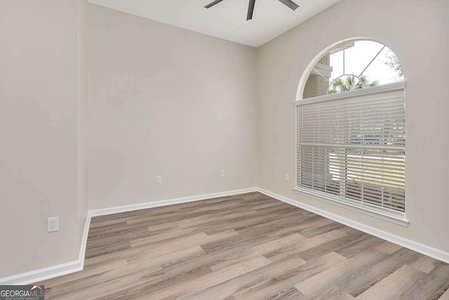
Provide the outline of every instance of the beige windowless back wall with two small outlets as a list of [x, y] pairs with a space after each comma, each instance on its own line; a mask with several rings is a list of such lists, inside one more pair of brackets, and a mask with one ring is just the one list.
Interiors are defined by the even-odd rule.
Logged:
[[89, 4], [90, 209], [254, 187], [255, 60], [255, 48]]

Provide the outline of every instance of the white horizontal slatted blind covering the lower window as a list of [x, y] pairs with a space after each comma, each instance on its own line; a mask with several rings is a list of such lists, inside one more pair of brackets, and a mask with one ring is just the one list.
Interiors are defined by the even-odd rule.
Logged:
[[298, 100], [297, 188], [404, 215], [405, 83]]

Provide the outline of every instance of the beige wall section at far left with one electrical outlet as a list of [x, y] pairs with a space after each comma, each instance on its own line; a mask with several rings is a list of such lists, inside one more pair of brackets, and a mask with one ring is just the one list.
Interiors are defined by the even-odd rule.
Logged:
[[76, 1], [0, 1], [0, 278], [79, 256], [78, 25]]

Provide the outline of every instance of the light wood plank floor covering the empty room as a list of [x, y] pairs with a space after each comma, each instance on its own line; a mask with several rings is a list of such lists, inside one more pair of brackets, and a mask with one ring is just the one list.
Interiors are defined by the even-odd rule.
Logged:
[[248, 193], [95, 217], [85, 269], [39, 285], [47, 299], [423, 300], [443, 296], [449, 265]]

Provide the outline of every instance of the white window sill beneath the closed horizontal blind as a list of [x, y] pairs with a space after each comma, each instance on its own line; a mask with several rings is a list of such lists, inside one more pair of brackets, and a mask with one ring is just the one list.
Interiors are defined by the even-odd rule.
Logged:
[[406, 219], [406, 214], [396, 211], [387, 211], [385, 209], [379, 209], [374, 206], [368, 206], [368, 205], [360, 205], [354, 202], [351, 202], [349, 200], [343, 200], [343, 199], [335, 199], [333, 197], [328, 197], [326, 195], [323, 195], [323, 193], [316, 192], [313, 190], [308, 190], [306, 188], [293, 188], [295, 193], [312, 197], [316, 200], [320, 200], [323, 202], [328, 202], [330, 204], [337, 205], [339, 207], [344, 207], [346, 209], [351, 209], [352, 211], [357, 211], [361, 214], [366, 214], [368, 216], [373, 216], [377, 219], [382, 219], [384, 221], [389, 221], [391, 223], [395, 223], [401, 226], [408, 226], [408, 219]]

